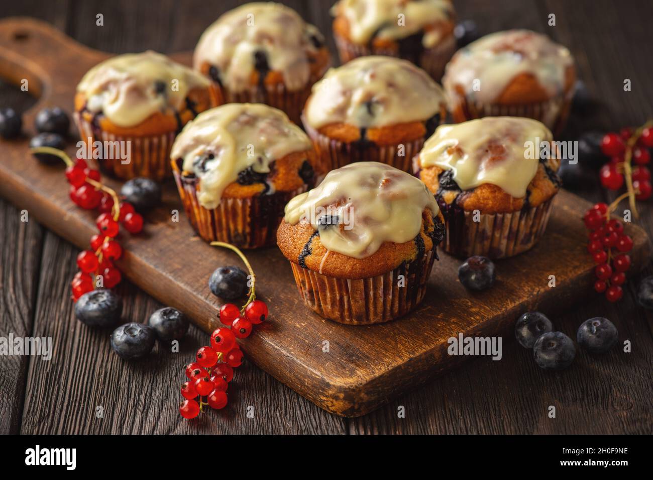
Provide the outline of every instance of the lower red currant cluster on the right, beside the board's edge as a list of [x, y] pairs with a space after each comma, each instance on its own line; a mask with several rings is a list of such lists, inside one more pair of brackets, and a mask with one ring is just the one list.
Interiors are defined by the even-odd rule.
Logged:
[[597, 264], [594, 290], [605, 292], [605, 298], [611, 302], [616, 302], [624, 294], [621, 285], [626, 282], [625, 272], [631, 265], [628, 252], [633, 249], [633, 239], [624, 234], [624, 225], [610, 218], [616, 204], [618, 201], [613, 206], [597, 203], [583, 217], [590, 230], [587, 251]]

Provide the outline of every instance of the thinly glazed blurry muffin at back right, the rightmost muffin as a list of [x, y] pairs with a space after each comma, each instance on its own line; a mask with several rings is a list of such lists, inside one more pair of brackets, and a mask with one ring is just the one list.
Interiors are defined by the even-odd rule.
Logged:
[[456, 52], [443, 86], [456, 122], [486, 116], [539, 120], [560, 133], [576, 80], [569, 50], [541, 33], [492, 33]]

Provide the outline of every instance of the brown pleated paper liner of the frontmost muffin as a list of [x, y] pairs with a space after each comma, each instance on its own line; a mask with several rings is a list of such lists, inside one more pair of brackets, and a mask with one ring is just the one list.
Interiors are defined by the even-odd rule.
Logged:
[[[347, 325], [383, 323], [413, 310], [424, 298], [436, 248], [422, 259], [404, 263], [383, 275], [356, 280], [335, 278], [291, 262], [299, 295], [322, 317]], [[403, 275], [405, 285], [398, 286]]]

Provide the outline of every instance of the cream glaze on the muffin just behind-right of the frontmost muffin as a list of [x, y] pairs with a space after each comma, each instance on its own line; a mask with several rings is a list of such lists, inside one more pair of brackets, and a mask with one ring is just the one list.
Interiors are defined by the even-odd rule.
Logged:
[[[439, 126], [424, 143], [419, 163], [422, 168], [453, 170], [453, 180], [462, 190], [494, 184], [522, 198], [537, 172], [537, 146], [552, 140], [549, 129], [537, 120], [485, 117]], [[535, 155], [529, 154], [526, 142], [533, 142]]]

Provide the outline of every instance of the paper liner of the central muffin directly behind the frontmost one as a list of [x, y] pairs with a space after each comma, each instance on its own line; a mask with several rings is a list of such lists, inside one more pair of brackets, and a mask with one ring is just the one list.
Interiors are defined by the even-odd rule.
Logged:
[[335, 168], [354, 162], [387, 163], [387, 165], [392, 165], [404, 172], [412, 172], [412, 159], [424, 145], [424, 138], [397, 145], [377, 145], [374, 142], [346, 143], [322, 135], [308, 125], [303, 118], [302, 122], [304, 130], [310, 136], [315, 150], [317, 150], [317, 168], [322, 173], [328, 173]]

